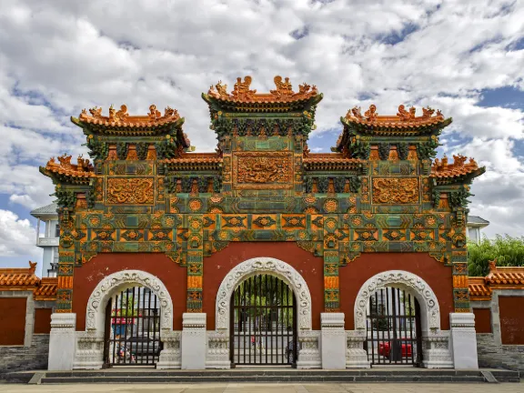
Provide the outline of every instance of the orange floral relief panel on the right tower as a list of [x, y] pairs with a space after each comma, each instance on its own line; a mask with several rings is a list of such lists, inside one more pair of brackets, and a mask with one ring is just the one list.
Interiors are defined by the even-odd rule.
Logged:
[[418, 204], [418, 178], [375, 177], [374, 204]]

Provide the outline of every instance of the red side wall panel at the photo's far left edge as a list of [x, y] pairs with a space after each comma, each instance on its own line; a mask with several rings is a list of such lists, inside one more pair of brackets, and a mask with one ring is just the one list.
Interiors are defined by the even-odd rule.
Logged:
[[0, 346], [24, 345], [26, 297], [0, 297]]

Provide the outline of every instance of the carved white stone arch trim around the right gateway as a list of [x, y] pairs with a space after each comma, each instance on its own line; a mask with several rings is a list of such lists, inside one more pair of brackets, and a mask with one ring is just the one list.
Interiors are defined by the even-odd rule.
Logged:
[[407, 289], [418, 299], [420, 305], [420, 322], [422, 330], [436, 333], [440, 330], [440, 309], [438, 299], [422, 278], [405, 270], [388, 270], [368, 279], [358, 291], [355, 301], [355, 330], [366, 331], [366, 310], [369, 298], [384, 287]]

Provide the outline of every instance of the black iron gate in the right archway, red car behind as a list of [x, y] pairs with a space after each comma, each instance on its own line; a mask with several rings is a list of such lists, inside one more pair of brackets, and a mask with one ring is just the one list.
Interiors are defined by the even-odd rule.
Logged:
[[366, 348], [372, 365], [422, 362], [420, 307], [416, 297], [396, 287], [379, 289], [369, 299]]

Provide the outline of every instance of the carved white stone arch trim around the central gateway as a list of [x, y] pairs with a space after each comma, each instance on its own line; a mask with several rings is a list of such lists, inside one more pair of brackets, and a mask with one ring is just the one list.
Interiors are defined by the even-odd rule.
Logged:
[[248, 277], [261, 273], [276, 276], [291, 287], [297, 299], [298, 330], [311, 330], [311, 294], [306, 280], [295, 267], [273, 257], [247, 259], [227, 273], [217, 293], [216, 329], [229, 329], [229, 307], [235, 289]]

